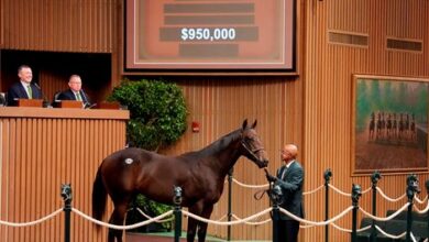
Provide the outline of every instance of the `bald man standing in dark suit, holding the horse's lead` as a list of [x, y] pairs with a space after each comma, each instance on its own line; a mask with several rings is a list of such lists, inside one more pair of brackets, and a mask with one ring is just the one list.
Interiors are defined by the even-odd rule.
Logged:
[[[296, 161], [298, 147], [295, 144], [286, 144], [280, 151], [284, 165], [277, 169], [276, 176], [266, 175], [268, 182], [282, 188], [283, 200], [279, 205], [298, 218], [304, 218], [302, 184], [304, 169]], [[278, 241], [298, 241], [299, 222], [289, 216], [280, 213], [278, 220]]]

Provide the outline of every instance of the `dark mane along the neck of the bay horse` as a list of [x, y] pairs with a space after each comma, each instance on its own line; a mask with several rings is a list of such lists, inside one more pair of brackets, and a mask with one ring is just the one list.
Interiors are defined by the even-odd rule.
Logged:
[[187, 152], [187, 153], [182, 154], [180, 156], [194, 156], [194, 155], [206, 156], [206, 155], [217, 153], [219, 151], [223, 151], [224, 148], [227, 148], [227, 146], [229, 144], [231, 144], [231, 142], [239, 139], [240, 134], [241, 134], [241, 129], [234, 130], [234, 131], [219, 138], [217, 141], [212, 142], [210, 145], [208, 145], [199, 151]]

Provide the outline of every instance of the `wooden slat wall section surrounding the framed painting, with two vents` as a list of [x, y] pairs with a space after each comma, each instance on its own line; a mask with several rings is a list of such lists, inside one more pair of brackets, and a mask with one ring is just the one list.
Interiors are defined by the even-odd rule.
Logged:
[[[369, 176], [351, 176], [352, 135], [352, 75], [392, 75], [407, 77], [429, 76], [429, 2], [323, 0], [306, 1], [306, 56], [305, 56], [305, 169], [306, 190], [318, 187], [321, 174], [332, 168], [332, 185], [351, 193], [352, 183], [363, 189], [371, 186]], [[352, 47], [328, 43], [328, 31], [359, 33], [369, 36], [367, 47]], [[386, 50], [386, 37], [422, 41], [422, 53]], [[407, 174], [384, 176], [380, 187], [391, 197], [405, 193]], [[419, 174], [421, 188], [428, 179]], [[422, 197], [426, 193], [422, 193]], [[351, 199], [331, 193], [330, 217], [351, 205]], [[321, 221], [323, 193], [306, 199], [307, 218]], [[388, 202], [377, 197], [378, 216], [387, 209], [402, 207], [406, 201]], [[364, 195], [360, 205], [371, 211], [371, 195]], [[351, 216], [338, 221], [351, 229]], [[323, 228], [302, 230], [305, 240], [321, 241]], [[330, 241], [349, 241], [350, 235], [330, 228]]]

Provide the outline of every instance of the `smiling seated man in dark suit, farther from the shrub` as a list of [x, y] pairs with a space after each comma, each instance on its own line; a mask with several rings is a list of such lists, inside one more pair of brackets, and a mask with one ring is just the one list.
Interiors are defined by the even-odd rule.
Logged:
[[18, 68], [19, 82], [8, 90], [8, 106], [16, 106], [16, 99], [43, 99], [42, 90], [32, 84], [33, 73], [30, 66], [22, 65]]

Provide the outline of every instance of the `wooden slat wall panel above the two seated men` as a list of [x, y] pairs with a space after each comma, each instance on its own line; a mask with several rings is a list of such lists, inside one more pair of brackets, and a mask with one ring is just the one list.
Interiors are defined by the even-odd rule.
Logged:
[[0, 47], [111, 53], [117, 0], [2, 0]]

